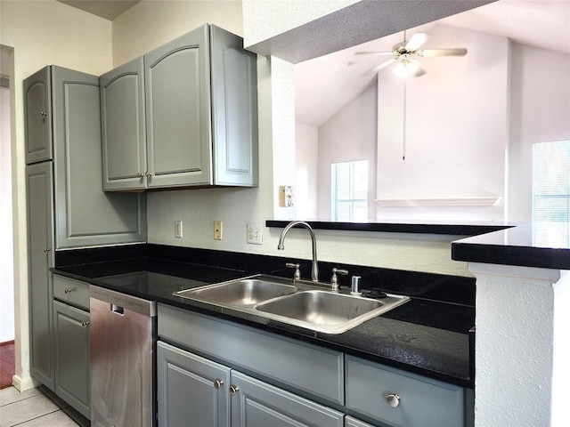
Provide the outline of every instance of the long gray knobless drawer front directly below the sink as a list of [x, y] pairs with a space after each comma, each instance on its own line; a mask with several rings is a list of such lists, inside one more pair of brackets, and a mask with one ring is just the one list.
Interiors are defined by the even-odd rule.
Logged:
[[280, 386], [344, 404], [343, 354], [159, 304], [159, 336]]

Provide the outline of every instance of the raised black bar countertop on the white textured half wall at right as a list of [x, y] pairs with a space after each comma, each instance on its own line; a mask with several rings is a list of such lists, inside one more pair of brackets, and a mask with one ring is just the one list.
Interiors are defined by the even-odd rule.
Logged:
[[570, 269], [570, 224], [540, 222], [452, 242], [452, 259], [467, 262]]

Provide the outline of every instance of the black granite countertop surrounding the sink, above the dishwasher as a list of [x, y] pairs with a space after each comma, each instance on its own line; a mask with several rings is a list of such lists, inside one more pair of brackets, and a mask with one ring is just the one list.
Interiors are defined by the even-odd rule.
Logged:
[[[468, 388], [474, 385], [469, 374], [468, 344], [468, 329], [475, 321], [472, 306], [412, 297], [410, 302], [343, 334], [323, 334], [173, 295], [183, 289], [243, 278], [251, 271], [143, 257], [64, 265], [53, 272], [343, 351], [446, 383]], [[430, 286], [426, 287], [424, 294], [433, 293]]]

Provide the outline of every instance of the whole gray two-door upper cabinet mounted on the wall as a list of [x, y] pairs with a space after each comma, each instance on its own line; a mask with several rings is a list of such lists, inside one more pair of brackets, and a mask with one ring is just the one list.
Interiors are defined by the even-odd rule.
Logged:
[[256, 186], [256, 85], [256, 55], [212, 25], [102, 76], [104, 189]]

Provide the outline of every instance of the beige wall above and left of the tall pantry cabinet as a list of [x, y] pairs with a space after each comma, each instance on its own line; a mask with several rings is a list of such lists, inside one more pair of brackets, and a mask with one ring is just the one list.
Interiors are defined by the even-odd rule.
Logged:
[[31, 386], [28, 362], [28, 263], [22, 80], [46, 65], [99, 75], [111, 68], [111, 24], [55, 0], [2, 0], [0, 44], [14, 48], [12, 190], [16, 381]]

